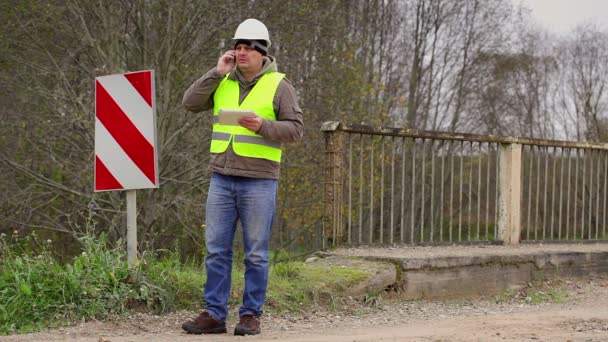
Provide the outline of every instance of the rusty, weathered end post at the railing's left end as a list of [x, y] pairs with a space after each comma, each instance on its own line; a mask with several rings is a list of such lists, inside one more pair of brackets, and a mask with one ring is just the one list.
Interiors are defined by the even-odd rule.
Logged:
[[321, 126], [325, 136], [325, 165], [323, 189], [323, 249], [327, 239], [335, 246], [343, 236], [341, 203], [342, 203], [342, 168], [344, 152], [344, 132], [338, 121], [325, 122]]

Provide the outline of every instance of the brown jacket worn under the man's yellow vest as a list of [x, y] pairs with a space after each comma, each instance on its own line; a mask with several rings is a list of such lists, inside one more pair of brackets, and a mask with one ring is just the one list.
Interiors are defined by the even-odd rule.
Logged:
[[[239, 81], [241, 90], [239, 103], [245, 100], [263, 74], [273, 71], [277, 71], [277, 64], [272, 56], [264, 59], [262, 70], [251, 82], [245, 80], [238, 68], [235, 68], [228, 77]], [[209, 70], [186, 90], [182, 100], [184, 107], [195, 113], [212, 109], [213, 95], [222, 79], [224, 76], [216, 68]], [[281, 143], [293, 142], [302, 138], [304, 134], [302, 110], [298, 105], [296, 92], [287, 79], [283, 79], [279, 83], [273, 105], [277, 120], [262, 119], [262, 126], [257, 133], [266, 139]], [[209, 170], [212, 172], [252, 178], [278, 179], [280, 167], [280, 163], [271, 160], [241, 157], [234, 153], [232, 143], [224, 153], [211, 153], [209, 162]]]

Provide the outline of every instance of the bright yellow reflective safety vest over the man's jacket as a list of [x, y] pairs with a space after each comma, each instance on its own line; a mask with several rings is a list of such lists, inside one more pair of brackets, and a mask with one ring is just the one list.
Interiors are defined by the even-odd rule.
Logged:
[[218, 121], [220, 109], [253, 110], [267, 120], [276, 120], [274, 95], [285, 74], [270, 72], [264, 74], [247, 97], [239, 105], [239, 82], [228, 78], [220, 82], [213, 97], [213, 135], [211, 153], [223, 153], [232, 142], [234, 152], [243, 157], [262, 158], [281, 162], [281, 143], [265, 139], [242, 126], [222, 125]]

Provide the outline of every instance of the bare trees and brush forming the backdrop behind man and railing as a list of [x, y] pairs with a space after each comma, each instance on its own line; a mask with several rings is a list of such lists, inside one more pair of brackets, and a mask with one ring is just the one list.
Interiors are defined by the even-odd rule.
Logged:
[[319, 240], [324, 121], [546, 138], [577, 127], [575, 138], [605, 139], [606, 34], [582, 28], [553, 51], [519, 10], [501, 0], [5, 1], [0, 229], [124, 235], [122, 194], [92, 191], [93, 79], [154, 69], [160, 188], [138, 192], [140, 236], [198, 253], [211, 113], [186, 113], [181, 96], [247, 17], [271, 29], [305, 116], [304, 141], [284, 154], [275, 247]]

